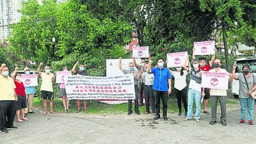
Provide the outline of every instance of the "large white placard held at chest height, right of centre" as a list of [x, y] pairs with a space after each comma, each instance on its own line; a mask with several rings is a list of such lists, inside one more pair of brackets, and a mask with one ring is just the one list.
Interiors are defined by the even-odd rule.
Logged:
[[201, 86], [203, 88], [228, 90], [228, 79], [228, 73], [203, 71]]

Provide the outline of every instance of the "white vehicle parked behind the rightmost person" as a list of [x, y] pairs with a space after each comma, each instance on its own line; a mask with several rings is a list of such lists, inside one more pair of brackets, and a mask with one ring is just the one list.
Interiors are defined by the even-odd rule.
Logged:
[[[238, 67], [236, 67], [236, 74], [242, 73], [242, 67], [245, 63], [250, 65], [250, 73], [256, 73], [256, 56], [251, 56], [247, 58], [239, 58], [235, 62]], [[232, 94], [234, 95], [234, 98], [238, 98], [239, 95], [239, 81], [233, 80], [232, 81]]]

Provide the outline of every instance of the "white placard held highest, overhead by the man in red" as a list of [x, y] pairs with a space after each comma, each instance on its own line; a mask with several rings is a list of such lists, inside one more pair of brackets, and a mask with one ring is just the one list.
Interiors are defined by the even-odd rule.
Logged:
[[215, 54], [215, 41], [194, 42], [195, 55], [213, 55]]

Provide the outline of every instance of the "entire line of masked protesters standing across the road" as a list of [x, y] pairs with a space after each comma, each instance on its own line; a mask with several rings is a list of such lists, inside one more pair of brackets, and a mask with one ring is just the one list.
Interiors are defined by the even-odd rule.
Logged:
[[[182, 67], [175, 67], [177, 71], [173, 71], [164, 67], [163, 58], [158, 58], [154, 67], [153, 61], [149, 56], [148, 63], [144, 58], [141, 58], [140, 64], [136, 63], [135, 58], [133, 62], [129, 63], [129, 69], [123, 69], [121, 64], [121, 57], [119, 58], [119, 69], [125, 74], [132, 74], [134, 76], [135, 88], [135, 113], [140, 115], [139, 105], [144, 105], [143, 94], [146, 104], [146, 113], [155, 115], [154, 120], [160, 118], [160, 101], [163, 106], [163, 120], [167, 120], [167, 98], [171, 94], [171, 78], [174, 77], [174, 91], [177, 96], [179, 107], [179, 116], [182, 115], [181, 101], [184, 105], [184, 120], [192, 119], [193, 105], [196, 103], [195, 120], [200, 122], [201, 113], [201, 99], [203, 98], [203, 113], [209, 115], [207, 111], [207, 99], [211, 98], [211, 122], [213, 125], [217, 122], [217, 101], [219, 99], [221, 104], [221, 124], [226, 126], [226, 90], [202, 88], [202, 71], [211, 71], [217, 73], [227, 73], [226, 69], [222, 69], [221, 60], [215, 59], [212, 56], [211, 61], [206, 63], [205, 58], [198, 58], [192, 56], [192, 65], [189, 62], [189, 56], [184, 62]], [[188, 65], [186, 64], [188, 63]], [[47, 99], [49, 99], [50, 113], [55, 114], [53, 111], [53, 83], [54, 75], [51, 73], [51, 67], [45, 66], [45, 72], [41, 72], [41, 66], [37, 68], [37, 74], [42, 79], [41, 96], [43, 98], [43, 115], [47, 115]], [[79, 69], [75, 68], [79, 65]], [[135, 67], [138, 69], [135, 69]], [[211, 69], [213, 67], [213, 69]], [[256, 90], [256, 77], [249, 73], [250, 67], [245, 64], [242, 68], [243, 73], [236, 75], [236, 67], [233, 66], [232, 73], [229, 74], [229, 81], [236, 79], [240, 81], [240, 105], [241, 105], [241, 121], [240, 124], [245, 124], [245, 113], [248, 111], [249, 125], [253, 126], [253, 106], [254, 99], [250, 98], [250, 94]], [[11, 77], [9, 77], [9, 68], [7, 65], [2, 64], [0, 67], [0, 132], [8, 133], [8, 129], [15, 129], [13, 125], [14, 115], [16, 114], [17, 122], [24, 122], [27, 113], [35, 113], [33, 111], [33, 98], [35, 95], [35, 86], [24, 86], [20, 81], [20, 73], [17, 73], [18, 67], [15, 68]], [[63, 67], [63, 71], [68, 71], [68, 67]], [[88, 73], [85, 70], [83, 63], [77, 62], [72, 68], [75, 75], [85, 75]], [[30, 75], [29, 67], [24, 68], [25, 75]], [[190, 75], [190, 83], [186, 83], [186, 75]], [[64, 112], [69, 112], [69, 101], [66, 96], [65, 84], [60, 84], [59, 95], [62, 97]], [[188, 98], [188, 100], [187, 100]], [[150, 111], [151, 105], [151, 111]], [[21, 118], [20, 118], [21, 111]], [[77, 113], [81, 111], [80, 100], [77, 100]], [[87, 101], [83, 100], [83, 111], [87, 112]], [[128, 100], [128, 115], [131, 115], [132, 100]]]

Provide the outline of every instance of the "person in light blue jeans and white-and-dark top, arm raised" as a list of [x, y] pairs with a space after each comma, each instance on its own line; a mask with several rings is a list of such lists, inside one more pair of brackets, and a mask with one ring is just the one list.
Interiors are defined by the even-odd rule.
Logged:
[[190, 120], [192, 118], [193, 104], [196, 103], [196, 122], [200, 122], [201, 113], [201, 98], [205, 96], [204, 88], [201, 87], [202, 70], [198, 67], [198, 60], [192, 60], [193, 68], [186, 67], [188, 58], [183, 67], [190, 74], [190, 83], [188, 86], [188, 113], [183, 120]]

